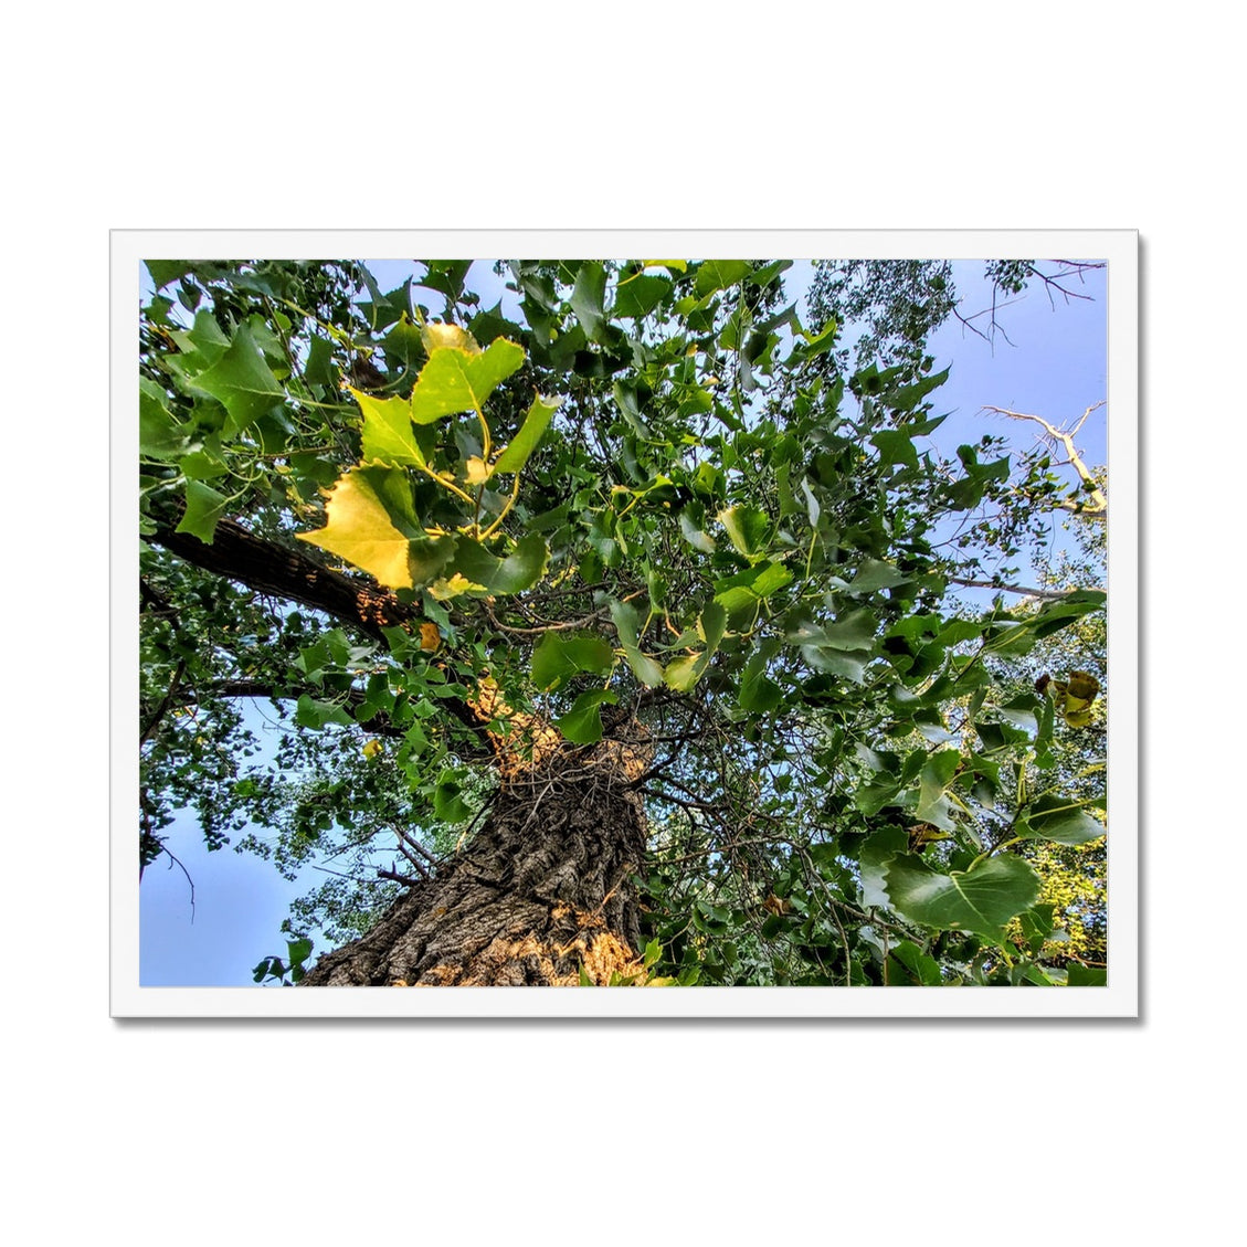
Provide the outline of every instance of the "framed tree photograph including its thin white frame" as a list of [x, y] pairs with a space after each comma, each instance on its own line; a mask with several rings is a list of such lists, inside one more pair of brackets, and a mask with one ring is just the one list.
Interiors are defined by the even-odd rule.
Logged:
[[115, 232], [115, 1015], [1132, 1015], [1136, 247]]

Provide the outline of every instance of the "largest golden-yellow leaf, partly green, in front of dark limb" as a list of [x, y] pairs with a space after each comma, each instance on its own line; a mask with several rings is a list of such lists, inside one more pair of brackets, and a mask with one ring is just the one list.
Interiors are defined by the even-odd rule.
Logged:
[[[399, 493], [404, 485], [405, 500]], [[387, 589], [412, 589], [412, 534], [395, 527], [393, 514], [398, 510], [407, 526], [404, 501], [409, 513], [410, 486], [399, 470], [353, 468], [329, 491], [325, 526], [296, 536], [354, 564]]]

